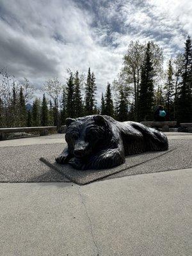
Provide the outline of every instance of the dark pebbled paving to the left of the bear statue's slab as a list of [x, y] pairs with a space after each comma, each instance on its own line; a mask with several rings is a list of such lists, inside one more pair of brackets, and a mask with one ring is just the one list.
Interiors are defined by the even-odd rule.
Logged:
[[40, 157], [54, 157], [63, 144], [0, 147], [0, 182], [67, 182], [63, 175], [52, 170]]

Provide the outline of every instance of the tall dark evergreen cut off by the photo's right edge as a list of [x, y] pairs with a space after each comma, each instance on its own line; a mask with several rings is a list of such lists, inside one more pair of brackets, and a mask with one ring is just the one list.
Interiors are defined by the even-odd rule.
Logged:
[[186, 40], [182, 82], [178, 91], [177, 121], [192, 122], [192, 46], [190, 36]]

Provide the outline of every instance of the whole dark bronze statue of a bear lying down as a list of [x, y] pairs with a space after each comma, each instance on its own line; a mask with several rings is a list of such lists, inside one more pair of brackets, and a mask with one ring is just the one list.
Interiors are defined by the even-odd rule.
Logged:
[[66, 119], [68, 147], [56, 162], [79, 170], [105, 169], [125, 162], [125, 156], [167, 150], [163, 132], [136, 122], [118, 122], [111, 116], [91, 115]]

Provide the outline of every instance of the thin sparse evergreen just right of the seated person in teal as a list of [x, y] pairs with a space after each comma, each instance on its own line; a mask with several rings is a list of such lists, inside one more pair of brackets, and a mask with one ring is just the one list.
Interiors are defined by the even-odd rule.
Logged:
[[168, 70], [167, 70], [167, 81], [164, 86], [165, 90], [165, 105], [169, 117], [171, 118], [173, 112], [173, 95], [174, 95], [174, 81], [173, 81], [173, 67], [172, 60], [169, 61]]

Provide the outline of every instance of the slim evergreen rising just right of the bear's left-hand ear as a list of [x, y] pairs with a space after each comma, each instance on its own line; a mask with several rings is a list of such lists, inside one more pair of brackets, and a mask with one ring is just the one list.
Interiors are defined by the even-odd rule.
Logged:
[[79, 72], [76, 71], [74, 78], [74, 117], [77, 118], [83, 114], [83, 102], [81, 96], [81, 86]]

